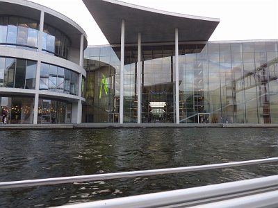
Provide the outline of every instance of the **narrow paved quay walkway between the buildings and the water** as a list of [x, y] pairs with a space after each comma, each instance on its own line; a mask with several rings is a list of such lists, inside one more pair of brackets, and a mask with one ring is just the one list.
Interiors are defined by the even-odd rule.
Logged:
[[278, 128], [278, 123], [63, 123], [0, 124], [0, 130], [101, 129], [101, 128]]

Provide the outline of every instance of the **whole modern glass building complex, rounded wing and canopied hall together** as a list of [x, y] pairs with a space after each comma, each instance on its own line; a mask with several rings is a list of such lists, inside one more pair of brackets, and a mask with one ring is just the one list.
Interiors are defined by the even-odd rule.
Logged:
[[209, 42], [219, 19], [83, 3], [109, 45], [87, 48], [83, 29], [54, 10], [0, 0], [0, 118], [278, 123], [278, 40]]

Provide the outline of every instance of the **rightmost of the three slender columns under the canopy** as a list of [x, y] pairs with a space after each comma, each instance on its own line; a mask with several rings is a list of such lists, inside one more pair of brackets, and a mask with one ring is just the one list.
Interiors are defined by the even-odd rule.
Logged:
[[179, 29], [175, 30], [176, 123], [179, 123]]

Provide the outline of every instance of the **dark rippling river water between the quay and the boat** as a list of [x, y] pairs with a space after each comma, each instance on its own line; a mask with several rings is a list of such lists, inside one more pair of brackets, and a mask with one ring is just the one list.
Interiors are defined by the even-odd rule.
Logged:
[[[278, 128], [1, 131], [0, 182], [278, 156]], [[278, 174], [278, 163], [0, 190], [0, 207], [52, 207]]]

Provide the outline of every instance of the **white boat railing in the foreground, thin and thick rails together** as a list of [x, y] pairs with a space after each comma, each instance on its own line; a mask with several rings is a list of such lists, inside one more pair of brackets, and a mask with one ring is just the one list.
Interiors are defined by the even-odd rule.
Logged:
[[[269, 162], [278, 162], [278, 157], [272, 157], [267, 159], [254, 159], [243, 162], [229, 162], [223, 164], [209, 164], [202, 166], [190, 166], [180, 168], [165, 168], [147, 171], [130, 171], [124, 173], [106, 173], [97, 175], [80, 175], [72, 177], [55, 177], [39, 180], [0, 182], [0, 190], [19, 187], [33, 187], [49, 184], [109, 180], [148, 175], [163, 175], [170, 173], [185, 173], [191, 171], [204, 171], [215, 168], [229, 168], [235, 166], [246, 166]], [[115, 198], [111, 200], [83, 202], [74, 205], [64, 205], [62, 207], [278, 207], [278, 175], [259, 177], [250, 180], [241, 180], [236, 182], [227, 182], [222, 184], [213, 184], [204, 187], [194, 187], [174, 191], [142, 194], [139, 196]]]

